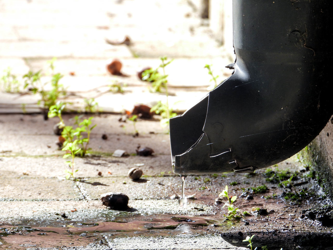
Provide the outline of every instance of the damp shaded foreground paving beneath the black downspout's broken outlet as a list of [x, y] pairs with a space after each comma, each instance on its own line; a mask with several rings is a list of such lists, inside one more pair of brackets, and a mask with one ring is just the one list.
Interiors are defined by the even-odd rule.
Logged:
[[[70, 122], [71, 116], [74, 115], [66, 115], [66, 121]], [[237, 247], [247, 245], [242, 240], [253, 234], [254, 246], [259, 249], [266, 245], [268, 249], [278, 250], [281, 247], [332, 249], [332, 227], [323, 226], [320, 221], [312, 220], [303, 213], [303, 210], [320, 208], [330, 201], [311, 177], [312, 170], [305, 168], [297, 156], [271, 167], [271, 171], [261, 169], [255, 171], [255, 174], [188, 176], [185, 181], [185, 194], [190, 196], [195, 193], [195, 199], [188, 199], [187, 207], [181, 208], [177, 199], [172, 199], [174, 194], [171, 187], [180, 193], [181, 179], [172, 173], [170, 154], [166, 154], [168, 136], [161, 132], [149, 134], [154, 128], [160, 131], [159, 120], [139, 120], [137, 124], [144, 124], [140, 134], [149, 135], [154, 151], [160, 153], [153, 157], [112, 157], [115, 148], [128, 146], [124, 138], [131, 137], [119, 127], [119, 117], [120, 115], [103, 115], [93, 118], [93, 121], [98, 121], [92, 137], [93, 150], [98, 148], [100, 143], [104, 143], [101, 135], [105, 132], [110, 135], [108, 144], [103, 151], [96, 150], [95, 154], [76, 158], [76, 168], [79, 169], [77, 176], [82, 178], [74, 182], [64, 178], [67, 168], [65, 159], [62, 158], [64, 152], [57, 149], [54, 144], [57, 136], [52, 134], [56, 121], [44, 121], [41, 115], [0, 116], [1, 131], [7, 131], [7, 136], [14, 136], [15, 133], [27, 135], [27, 131], [33, 130], [33, 136], [39, 138], [36, 143], [27, 141], [26, 137], [22, 136], [8, 144], [1, 136], [0, 249], [74, 249], [73, 246], [75, 249], [240, 249]], [[20, 121], [20, 118], [23, 121]], [[35, 121], [33, 126], [31, 120]], [[108, 125], [110, 130], [107, 130]], [[104, 129], [98, 129], [99, 126]], [[132, 143], [134, 149], [131, 153], [135, 152], [137, 143], [143, 145], [142, 142], [148, 140], [141, 135], [134, 139], [136, 143]], [[51, 141], [53, 143], [48, 148]], [[19, 150], [27, 145], [29, 146], [26, 152], [21, 153]], [[38, 147], [48, 148], [50, 151], [38, 155], [34, 151]], [[139, 181], [127, 177], [128, 170], [135, 164], [140, 164], [144, 172]], [[98, 175], [99, 171], [102, 176]], [[285, 178], [295, 175], [293, 186], [279, 186], [280, 181], [273, 179], [283, 171]], [[267, 179], [268, 177], [270, 179]], [[224, 214], [227, 214], [227, 209], [223, 208], [226, 200], [222, 200], [220, 204], [215, 203], [225, 185], [229, 187], [230, 196], [237, 195], [235, 207], [249, 212], [248, 216], [242, 216], [239, 220], [226, 220]], [[266, 185], [267, 190], [255, 193], [254, 189], [262, 185]], [[295, 191], [302, 193], [302, 196], [295, 200], [286, 200], [286, 194]], [[106, 192], [127, 194], [130, 198], [129, 209], [107, 209], [100, 200], [100, 195]], [[253, 212], [255, 208], [264, 212]], [[193, 224], [191, 221], [195, 220], [191, 216], [203, 218], [207, 223]], [[183, 220], [172, 226], [161, 222], [175, 217], [182, 217]], [[108, 221], [121, 223], [128, 228], [131, 228], [131, 225], [137, 227], [118, 230], [119, 224], [111, 223], [104, 231], [95, 230], [96, 232], [80, 237], [67, 231], [59, 234], [44, 232], [45, 227], [64, 230], [64, 225], [80, 228], [81, 223], [102, 225]], [[145, 225], [160, 225], [162, 228], [148, 229]], [[41, 231], [27, 231], [24, 227], [44, 228], [44, 231], [38, 235]], [[6, 235], [6, 230], [13, 234]], [[9, 246], [12, 248], [8, 248]], [[52, 248], [55, 246], [58, 247]]]

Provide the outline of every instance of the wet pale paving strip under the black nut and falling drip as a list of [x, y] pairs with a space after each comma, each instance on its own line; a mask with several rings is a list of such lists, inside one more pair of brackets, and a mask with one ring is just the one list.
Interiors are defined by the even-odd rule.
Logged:
[[[62, 226], [73, 222], [96, 223], [99, 221], [114, 221], [122, 218], [133, 221], [136, 216], [171, 217], [175, 214], [187, 216], [205, 216], [213, 212], [207, 205], [198, 205], [189, 201], [186, 208], [181, 208], [177, 200], [130, 200], [132, 212], [110, 210], [98, 200], [38, 200], [38, 201], [1, 201], [0, 208], [5, 213], [0, 214], [0, 223], [26, 226]], [[198, 208], [202, 210], [198, 211]], [[74, 209], [77, 211], [71, 212]], [[65, 212], [68, 218], [62, 218], [56, 213]], [[28, 222], [28, 223], [27, 223]]]

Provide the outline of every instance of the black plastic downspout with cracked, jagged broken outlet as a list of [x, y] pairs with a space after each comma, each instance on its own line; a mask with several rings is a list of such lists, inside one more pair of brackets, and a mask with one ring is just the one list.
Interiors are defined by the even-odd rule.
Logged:
[[173, 172], [248, 172], [311, 142], [332, 115], [332, 1], [234, 0], [233, 74], [170, 119]]

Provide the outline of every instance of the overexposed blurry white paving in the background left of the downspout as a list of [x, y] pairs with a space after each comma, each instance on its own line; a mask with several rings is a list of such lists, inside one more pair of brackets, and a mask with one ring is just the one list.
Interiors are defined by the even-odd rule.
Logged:
[[[163, 95], [138, 72], [162, 56], [174, 59], [165, 68], [169, 102], [184, 111], [212, 84], [206, 64], [218, 83], [231, 75], [232, 1], [0, 0], [1, 113], [40, 112], [40, 96], [24, 89], [29, 71], [40, 71], [45, 90], [59, 72], [73, 109], [92, 98], [105, 112], [152, 106]], [[106, 69], [115, 59], [122, 75]]]

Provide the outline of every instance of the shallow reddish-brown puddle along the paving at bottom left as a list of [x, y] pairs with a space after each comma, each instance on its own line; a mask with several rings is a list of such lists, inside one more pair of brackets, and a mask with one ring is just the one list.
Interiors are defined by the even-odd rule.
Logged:
[[[118, 218], [120, 219], [120, 218]], [[73, 223], [63, 227], [28, 227], [28, 226], [1, 226], [0, 249], [15, 247], [60, 247], [85, 246], [93, 242], [107, 244], [103, 233], [113, 236], [119, 232], [140, 233], [144, 231], [169, 231], [187, 225], [208, 226], [221, 221], [197, 216], [174, 216], [170, 218], [154, 218], [145, 221], [106, 221], [97, 223]], [[190, 231], [190, 230], [189, 230]], [[167, 233], [167, 232], [165, 232]], [[164, 234], [164, 233], [163, 233]]]

